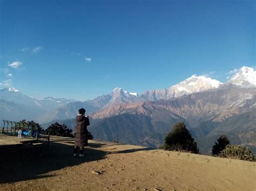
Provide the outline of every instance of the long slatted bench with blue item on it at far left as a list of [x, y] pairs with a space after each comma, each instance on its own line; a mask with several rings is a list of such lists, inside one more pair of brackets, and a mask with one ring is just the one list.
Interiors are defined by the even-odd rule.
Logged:
[[[50, 132], [48, 135], [39, 133], [38, 126], [36, 124], [27, 124], [25, 122], [14, 122], [14, 121], [7, 121], [3, 120], [4, 126], [2, 128], [2, 134], [9, 135], [9, 136], [18, 136], [18, 131], [22, 130], [22, 138], [19, 138], [19, 142], [21, 143], [31, 143], [35, 144], [40, 143], [41, 140], [46, 140], [47, 145], [49, 146], [50, 142]], [[26, 135], [24, 135], [24, 133]], [[23, 139], [23, 138], [26, 139]]]

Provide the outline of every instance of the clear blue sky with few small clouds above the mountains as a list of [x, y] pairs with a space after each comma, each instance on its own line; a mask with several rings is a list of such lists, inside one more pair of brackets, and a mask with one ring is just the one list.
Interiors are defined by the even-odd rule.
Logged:
[[85, 101], [255, 67], [255, 1], [0, 0], [0, 88]]

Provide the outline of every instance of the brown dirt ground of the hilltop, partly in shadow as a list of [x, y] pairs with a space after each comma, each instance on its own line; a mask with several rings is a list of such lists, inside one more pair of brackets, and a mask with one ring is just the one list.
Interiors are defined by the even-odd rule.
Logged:
[[256, 162], [73, 139], [0, 147], [0, 190], [256, 190]]

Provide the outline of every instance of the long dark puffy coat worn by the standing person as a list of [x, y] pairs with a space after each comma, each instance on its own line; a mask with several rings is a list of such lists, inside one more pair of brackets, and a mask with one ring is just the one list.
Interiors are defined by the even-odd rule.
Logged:
[[76, 146], [87, 146], [88, 145], [88, 131], [87, 126], [90, 125], [89, 118], [83, 115], [78, 115], [76, 117]]

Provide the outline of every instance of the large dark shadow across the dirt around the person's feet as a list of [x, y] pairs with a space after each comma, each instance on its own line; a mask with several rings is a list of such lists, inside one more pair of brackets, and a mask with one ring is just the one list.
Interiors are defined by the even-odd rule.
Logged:
[[[72, 144], [73, 142], [64, 142]], [[107, 154], [130, 153], [150, 150], [150, 148], [134, 148], [122, 151], [101, 151], [104, 143], [90, 143], [85, 147], [86, 157], [73, 157], [73, 145], [51, 142], [49, 148], [29, 144], [0, 146], [0, 184], [17, 181], [47, 178], [48, 172], [65, 167], [72, 167], [84, 162], [104, 159]]]

